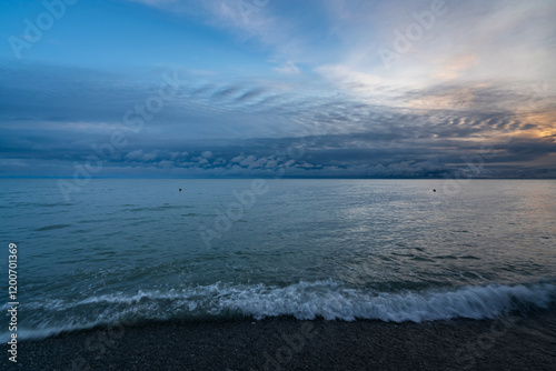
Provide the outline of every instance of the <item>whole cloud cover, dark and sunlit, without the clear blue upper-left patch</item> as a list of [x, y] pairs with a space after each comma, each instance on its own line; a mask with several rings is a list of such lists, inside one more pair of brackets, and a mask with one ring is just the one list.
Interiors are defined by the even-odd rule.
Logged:
[[[488, 174], [554, 168], [552, 1], [447, 1], [448, 12], [390, 70], [377, 50], [394, 49], [395, 31], [430, 1], [136, 2], [173, 13], [177, 24], [209, 24], [210, 38], [232, 34], [230, 54], [249, 62], [218, 61], [211, 71], [193, 56], [191, 68], [133, 71], [4, 63], [3, 174], [71, 176], [115, 132], [127, 144], [106, 176], [441, 177], [489, 147]], [[126, 112], [145, 107], [161, 73], [175, 71], [183, 81], [175, 97], [131, 130]], [[304, 153], [291, 159], [296, 142]]]

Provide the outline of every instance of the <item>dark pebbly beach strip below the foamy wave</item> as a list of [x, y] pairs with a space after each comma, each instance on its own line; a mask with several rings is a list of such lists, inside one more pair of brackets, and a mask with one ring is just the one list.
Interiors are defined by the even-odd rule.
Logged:
[[553, 370], [556, 312], [495, 320], [147, 322], [18, 343], [2, 370]]

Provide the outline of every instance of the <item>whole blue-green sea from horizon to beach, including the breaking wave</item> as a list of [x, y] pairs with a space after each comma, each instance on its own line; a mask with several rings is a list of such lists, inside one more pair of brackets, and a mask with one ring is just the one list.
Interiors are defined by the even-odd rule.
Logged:
[[1, 341], [10, 243], [18, 339], [148, 321], [556, 310], [556, 180], [72, 182], [0, 179]]

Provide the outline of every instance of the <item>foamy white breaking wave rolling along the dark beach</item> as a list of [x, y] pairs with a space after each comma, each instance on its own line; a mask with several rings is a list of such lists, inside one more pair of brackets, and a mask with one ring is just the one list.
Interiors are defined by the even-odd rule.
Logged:
[[[464, 287], [454, 290], [376, 292], [350, 289], [332, 280], [299, 282], [285, 288], [258, 285], [140, 290], [135, 294], [103, 294], [82, 300], [43, 300], [29, 303], [36, 325], [18, 329], [20, 339], [44, 338], [62, 331], [139, 320], [199, 319], [247, 315], [257, 320], [292, 315], [299, 320], [374, 319], [421, 322], [454, 318], [492, 319], [508, 311], [553, 308], [552, 283]], [[39, 317], [40, 315], [40, 317]], [[39, 320], [40, 318], [40, 320]], [[29, 320], [29, 322], [32, 322]], [[0, 340], [8, 339], [0, 334]]]

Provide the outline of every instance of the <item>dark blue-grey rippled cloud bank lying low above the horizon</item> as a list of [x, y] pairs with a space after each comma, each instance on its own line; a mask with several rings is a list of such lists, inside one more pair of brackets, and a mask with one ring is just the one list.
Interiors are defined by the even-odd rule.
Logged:
[[[504, 163], [556, 151], [554, 138], [489, 141], [493, 133], [538, 126], [527, 114], [502, 109], [527, 98], [503, 87], [437, 86], [397, 98], [441, 100], [470, 91], [467, 106], [455, 110], [354, 99], [322, 89], [324, 83], [222, 82], [187, 71], [179, 71], [182, 83], [160, 112], [145, 120], [140, 132], [130, 131], [125, 113], [157, 97], [161, 73], [137, 79], [24, 64], [0, 70], [1, 176], [71, 176], [75, 162], [97, 156], [91, 146], [109, 143], [118, 130], [127, 144], [107, 161], [106, 177], [272, 177], [280, 171], [287, 177], [440, 177], [477, 153], [506, 171]], [[485, 141], [494, 149], [486, 151]]]

